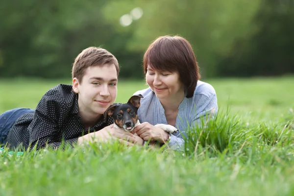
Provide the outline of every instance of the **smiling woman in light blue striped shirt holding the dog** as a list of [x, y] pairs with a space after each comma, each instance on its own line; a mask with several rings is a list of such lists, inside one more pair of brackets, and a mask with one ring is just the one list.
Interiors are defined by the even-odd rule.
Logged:
[[[151, 43], [144, 55], [144, 72], [149, 88], [142, 94], [138, 118], [141, 125], [133, 132], [145, 141], [183, 147], [182, 134], [199, 125], [201, 117], [218, 111], [214, 88], [200, 81], [199, 68], [190, 43], [179, 36], [162, 36]], [[179, 131], [172, 135], [153, 125], [171, 124]], [[151, 142], [152, 143], [152, 142]]]

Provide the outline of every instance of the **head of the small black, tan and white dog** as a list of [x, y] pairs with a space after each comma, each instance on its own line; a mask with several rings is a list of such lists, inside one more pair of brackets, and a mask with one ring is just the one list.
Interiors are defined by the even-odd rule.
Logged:
[[137, 111], [143, 96], [134, 95], [127, 103], [115, 103], [104, 112], [104, 117], [112, 116], [114, 123], [125, 131], [132, 131], [138, 121]]

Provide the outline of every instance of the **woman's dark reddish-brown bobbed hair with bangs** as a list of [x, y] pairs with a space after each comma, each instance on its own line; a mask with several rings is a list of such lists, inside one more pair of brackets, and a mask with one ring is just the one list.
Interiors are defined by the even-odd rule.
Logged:
[[144, 73], [147, 66], [160, 72], [177, 72], [184, 84], [186, 98], [192, 98], [200, 79], [199, 67], [190, 43], [180, 36], [161, 36], [147, 48], [144, 58]]

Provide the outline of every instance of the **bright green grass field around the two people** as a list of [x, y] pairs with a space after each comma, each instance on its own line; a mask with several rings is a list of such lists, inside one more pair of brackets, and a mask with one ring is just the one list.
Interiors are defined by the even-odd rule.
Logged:
[[[101, 144], [0, 155], [0, 196], [293, 196], [294, 77], [207, 80], [220, 113], [185, 149]], [[0, 113], [69, 81], [0, 80]], [[125, 102], [143, 81], [121, 81]], [[229, 108], [229, 114], [226, 110]]]

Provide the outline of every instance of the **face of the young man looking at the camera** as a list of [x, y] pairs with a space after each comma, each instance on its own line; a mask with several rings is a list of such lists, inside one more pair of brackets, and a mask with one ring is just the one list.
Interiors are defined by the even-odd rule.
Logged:
[[117, 96], [117, 82], [114, 64], [87, 68], [82, 82], [73, 78], [73, 91], [78, 93], [79, 112], [86, 116], [103, 114]]

